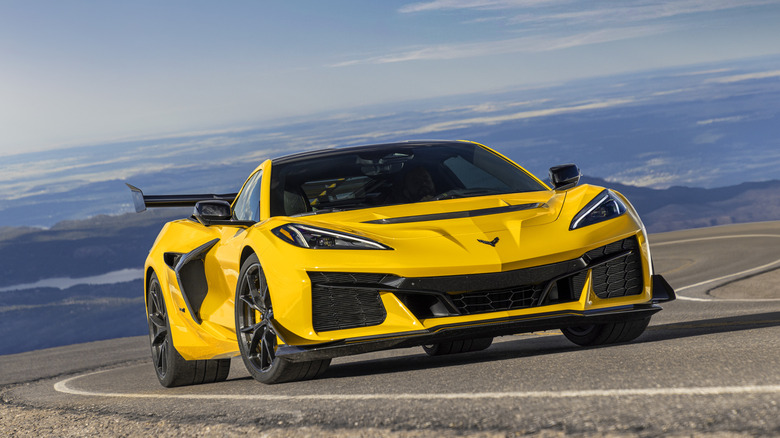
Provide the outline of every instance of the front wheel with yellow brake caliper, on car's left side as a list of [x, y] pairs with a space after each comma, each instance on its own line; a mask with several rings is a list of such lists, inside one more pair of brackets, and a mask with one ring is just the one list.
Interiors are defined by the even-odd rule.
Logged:
[[241, 266], [236, 286], [236, 338], [249, 374], [272, 384], [308, 380], [321, 375], [330, 359], [291, 362], [277, 357], [278, 337], [268, 283], [256, 254]]

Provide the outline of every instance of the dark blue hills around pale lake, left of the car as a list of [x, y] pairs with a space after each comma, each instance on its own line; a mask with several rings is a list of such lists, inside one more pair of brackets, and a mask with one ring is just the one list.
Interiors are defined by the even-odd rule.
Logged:
[[[0, 288], [143, 268], [162, 225], [188, 210], [0, 227]], [[0, 354], [146, 333], [143, 282], [0, 292]]]

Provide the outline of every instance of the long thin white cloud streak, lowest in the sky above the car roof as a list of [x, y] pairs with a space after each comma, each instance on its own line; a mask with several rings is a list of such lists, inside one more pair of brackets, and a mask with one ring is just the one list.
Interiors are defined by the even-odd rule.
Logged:
[[535, 53], [572, 47], [601, 44], [667, 32], [666, 26], [636, 26], [631, 28], [602, 29], [574, 35], [538, 35], [478, 43], [437, 44], [398, 50], [394, 53], [353, 59], [331, 65], [348, 67], [358, 64], [390, 64], [408, 61], [432, 61], [473, 58], [478, 56], [506, 55], [510, 53]]

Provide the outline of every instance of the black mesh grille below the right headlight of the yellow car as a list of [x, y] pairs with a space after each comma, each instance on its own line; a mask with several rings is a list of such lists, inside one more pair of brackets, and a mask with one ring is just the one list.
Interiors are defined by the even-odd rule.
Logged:
[[616, 298], [642, 293], [642, 257], [636, 237], [588, 251], [585, 255], [591, 260], [598, 260], [628, 250], [631, 250], [630, 254], [593, 268], [593, 292], [597, 297]]

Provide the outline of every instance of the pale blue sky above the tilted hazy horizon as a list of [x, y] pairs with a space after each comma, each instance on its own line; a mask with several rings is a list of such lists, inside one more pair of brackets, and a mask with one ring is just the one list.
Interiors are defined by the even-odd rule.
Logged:
[[779, 54], [777, 23], [780, 0], [0, 0], [0, 157]]

